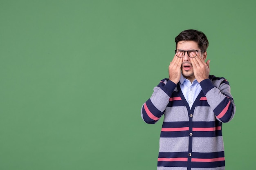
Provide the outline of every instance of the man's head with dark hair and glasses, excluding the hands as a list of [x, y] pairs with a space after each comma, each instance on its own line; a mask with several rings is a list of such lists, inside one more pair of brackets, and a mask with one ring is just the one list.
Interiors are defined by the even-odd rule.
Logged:
[[206, 60], [207, 47], [209, 42], [207, 37], [201, 31], [185, 30], [182, 31], [176, 38], [176, 55], [182, 58], [182, 75], [191, 82], [195, 79], [191, 57], [201, 57]]

